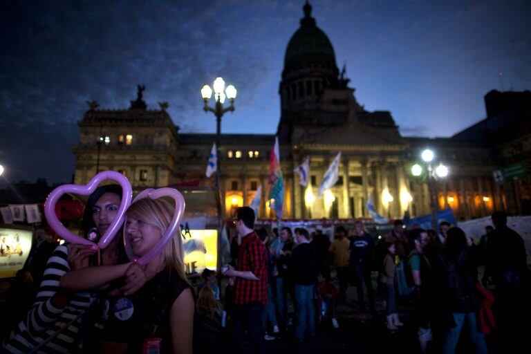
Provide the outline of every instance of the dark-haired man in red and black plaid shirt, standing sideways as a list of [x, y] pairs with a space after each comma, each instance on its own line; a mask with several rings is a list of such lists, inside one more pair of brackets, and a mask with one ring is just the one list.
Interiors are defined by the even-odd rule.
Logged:
[[262, 314], [268, 303], [268, 250], [254, 232], [254, 210], [239, 207], [234, 218], [241, 236], [236, 269], [228, 266], [227, 277], [235, 277], [234, 310], [230, 333], [230, 351], [237, 353], [243, 330], [249, 335], [254, 353], [265, 353]]

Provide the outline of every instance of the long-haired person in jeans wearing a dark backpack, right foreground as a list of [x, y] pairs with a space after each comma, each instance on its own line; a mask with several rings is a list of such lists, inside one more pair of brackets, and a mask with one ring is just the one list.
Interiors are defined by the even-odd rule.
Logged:
[[467, 251], [467, 237], [459, 227], [451, 227], [442, 251], [433, 258], [436, 318], [443, 329], [443, 353], [455, 353], [459, 336], [467, 328], [474, 352], [487, 353], [485, 335], [478, 330], [476, 312], [481, 307], [477, 288], [478, 270]]

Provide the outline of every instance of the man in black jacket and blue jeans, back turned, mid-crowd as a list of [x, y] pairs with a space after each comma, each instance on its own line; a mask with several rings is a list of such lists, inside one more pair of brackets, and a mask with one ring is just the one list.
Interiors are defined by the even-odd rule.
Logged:
[[295, 338], [302, 341], [305, 332], [308, 337], [315, 337], [313, 288], [317, 281], [317, 252], [310, 245], [308, 230], [299, 228], [295, 230], [295, 236], [299, 245], [293, 250], [290, 271], [295, 283]]

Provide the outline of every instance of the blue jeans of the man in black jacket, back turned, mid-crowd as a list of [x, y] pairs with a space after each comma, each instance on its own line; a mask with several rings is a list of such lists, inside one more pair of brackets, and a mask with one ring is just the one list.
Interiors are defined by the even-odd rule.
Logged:
[[295, 306], [297, 328], [295, 337], [304, 339], [304, 332], [315, 337], [315, 306], [313, 304], [313, 285], [295, 285]]

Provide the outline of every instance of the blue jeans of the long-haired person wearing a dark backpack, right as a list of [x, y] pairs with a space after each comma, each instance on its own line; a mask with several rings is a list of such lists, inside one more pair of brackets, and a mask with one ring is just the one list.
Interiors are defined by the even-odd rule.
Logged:
[[459, 335], [463, 329], [463, 325], [467, 322], [468, 333], [474, 346], [476, 354], [487, 354], [487, 344], [485, 343], [485, 335], [478, 330], [476, 323], [476, 313], [454, 313], [454, 321], [456, 326], [445, 331], [445, 342], [443, 344], [443, 353], [455, 353]]

